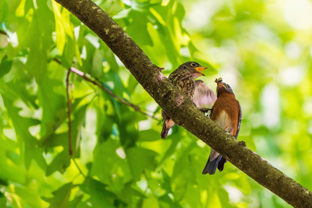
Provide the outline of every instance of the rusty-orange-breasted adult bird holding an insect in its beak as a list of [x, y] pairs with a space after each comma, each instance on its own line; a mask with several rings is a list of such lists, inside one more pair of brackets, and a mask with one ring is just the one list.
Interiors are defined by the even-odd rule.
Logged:
[[[216, 79], [215, 82], [217, 83], [217, 100], [213, 104], [208, 117], [237, 138], [241, 127], [241, 105], [236, 100], [230, 85], [222, 82], [222, 78]], [[210, 150], [209, 159], [202, 174], [209, 173], [212, 175], [217, 168], [221, 172], [224, 163], [227, 162], [218, 152], [212, 148]]]

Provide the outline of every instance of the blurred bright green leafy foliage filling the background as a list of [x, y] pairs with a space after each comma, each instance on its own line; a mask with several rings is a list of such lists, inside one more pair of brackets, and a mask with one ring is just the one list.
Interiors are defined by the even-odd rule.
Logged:
[[[208, 86], [222, 77], [241, 103], [238, 139], [312, 189], [311, 2], [95, 3], [166, 76], [193, 60], [209, 67]], [[290, 207], [229, 162], [202, 175], [210, 148], [183, 128], [161, 140], [158, 105], [56, 2], [0, 0], [0, 24], [0, 207]], [[71, 66], [156, 117], [71, 73], [74, 157], [86, 178], [68, 152]]]

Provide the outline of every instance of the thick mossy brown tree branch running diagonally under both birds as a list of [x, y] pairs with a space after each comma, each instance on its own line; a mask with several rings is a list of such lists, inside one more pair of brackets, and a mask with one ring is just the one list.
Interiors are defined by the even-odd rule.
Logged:
[[[161, 74], [119, 25], [91, 0], [56, 0], [94, 31], [118, 56], [143, 88], [179, 126], [219, 152], [294, 207], [311, 207], [312, 192], [287, 177], [202, 114], [193, 102]], [[207, 176], [209, 177], [209, 176]]]

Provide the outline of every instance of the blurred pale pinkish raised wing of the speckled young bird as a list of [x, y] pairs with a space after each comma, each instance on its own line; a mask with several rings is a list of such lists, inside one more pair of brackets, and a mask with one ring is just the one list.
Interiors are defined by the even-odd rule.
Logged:
[[211, 106], [216, 99], [216, 94], [202, 80], [195, 81], [193, 102], [197, 107]]

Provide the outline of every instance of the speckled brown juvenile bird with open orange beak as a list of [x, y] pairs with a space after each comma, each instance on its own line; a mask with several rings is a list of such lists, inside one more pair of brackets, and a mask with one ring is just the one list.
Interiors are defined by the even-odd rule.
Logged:
[[[168, 80], [178, 87], [182, 93], [193, 100], [196, 106], [213, 104], [217, 99], [216, 95], [202, 80], [194, 81], [194, 79], [199, 76], [205, 76], [202, 74], [204, 69], [207, 69], [207, 67], [202, 67], [196, 62], [189, 61], [180, 65], [178, 69], [174, 70], [168, 77]], [[164, 110], [161, 110], [161, 116], [163, 117], [163, 130], [160, 136], [165, 139], [169, 129], [173, 127], [174, 122]]]

